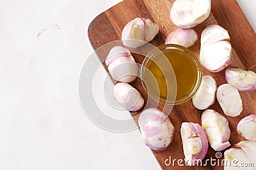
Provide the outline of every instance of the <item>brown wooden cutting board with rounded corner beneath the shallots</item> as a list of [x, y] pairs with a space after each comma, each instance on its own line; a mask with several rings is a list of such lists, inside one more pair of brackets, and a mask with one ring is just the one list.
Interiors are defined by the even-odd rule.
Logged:
[[[155, 46], [163, 45], [166, 37], [170, 32], [175, 31], [177, 26], [170, 20], [170, 8], [174, 0], [127, 0], [119, 4], [116, 4], [107, 11], [101, 13], [96, 17], [89, 26], [88, 36], [94, 49], [109, 43], [114, 40], [121, 39], [121, 32], [125, 24], [136, 17], [150, 18], [152, 21], [159, 25], [159, 33], [150, 43]], [[200, 34], [202, 30], [209, 24], [218, 24], [229, 31], [232, 44], [232, 67], [241, 67], [243, 69], [250, 69], [256, 64], [256, 35], [253, 32], [252, 27], [244, 17], [243, 12], [237, 5], [235, 0], [212, 0], [212, 10], [209, 18], [200, 25], [195, 27], [198, 32], [199, 40], [194, 46], [189, 48], [196, 56], [199, 56], [200, 50]], [[99, 55], [100, 60], [104, 61], [106, 55]], [[134, 54], [136, 62], [141, 63], [143, 57]], [[106, 65], [104, 67], [107, 69]], [[256, 66], [252, 68], [252, 71], [256, 71]], [[209, 74], [215, 80], [217, 85], [226, 83], [225, 73], [210, 73], [203, 68], [204, 75]], [[136, 79], [130, 83], [133, 87], [138, 89], [144, 99], [145, 94], [143, 88], [140, 85], [140, 80]], [[243, 100], [243, 111], [239, 117], [228, 117], [229, 127], [231, 131], [230, 143], [232, 146], [243, 140], [243, 138], [237, 133], [236, 126], [241, 118], [256, 114], [256, 90], [254, 92], [241, 93]], [[218, 102], [210, 107], [210, 109], [216, 110], [222, 115], [223, 111], [220, 108]], [[132, 114], [138, 115], [137, 114]], [[179, 167], [176, 165], [166, 166], [164, 160], [170, 156], [172, 159], [184, 159], [182, 150], [182, 141], [180, 137], [180, 126], [182, 122], [195, 122], [201, 125], [202, 111], [197, 110], [191, 101], [174, 106], [172, 113], [170, 113], [170, 120], [172, 120], [175, 127], [175, 134], [171, 145], [163, 152], [154, 152], [159, 164], [163, 169], [222, 169], [222, 167], [211, 167], [210, 164], [205, 167]], [[138, 120], [136, 120], [137, 122]], [[125, 146], [124, 146], [125, 147]], [[215, 159], [215, 151], [209, 146], [209, 151], [205, 159]], [[223, 152], [222, 152], [223, 153]]]

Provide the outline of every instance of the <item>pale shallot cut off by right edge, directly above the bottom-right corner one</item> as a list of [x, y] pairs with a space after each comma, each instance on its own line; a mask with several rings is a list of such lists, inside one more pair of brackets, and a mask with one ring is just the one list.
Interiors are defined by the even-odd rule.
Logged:
[[237, 124], [237, 132], [247, 140], [256, 141], [256, 115], [242, 118]]

